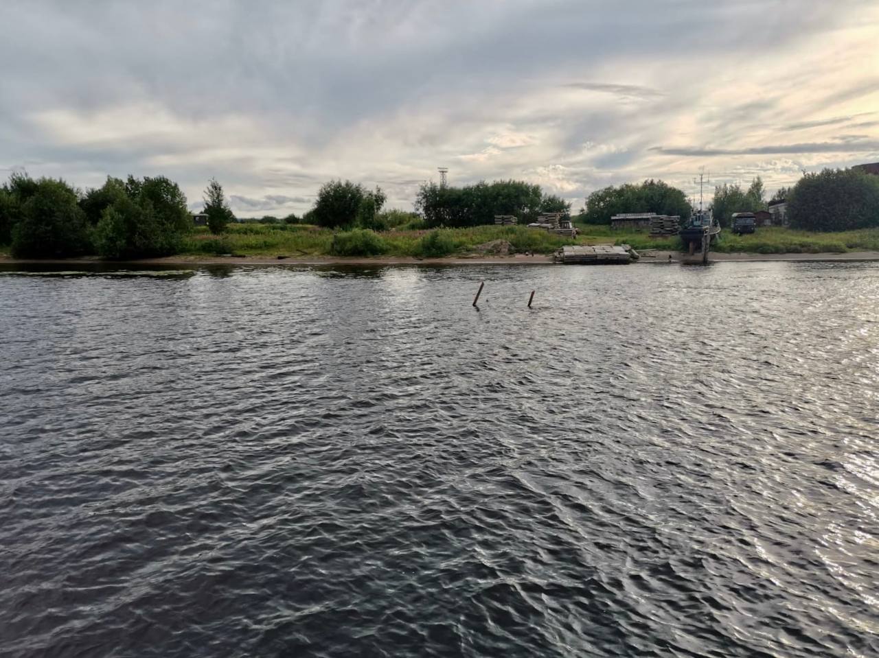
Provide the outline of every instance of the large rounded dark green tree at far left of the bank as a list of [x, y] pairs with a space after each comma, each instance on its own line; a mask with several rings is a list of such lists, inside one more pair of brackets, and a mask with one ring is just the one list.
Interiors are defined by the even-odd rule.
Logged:
[[[62, 180], [15, 182], [20, 213], [11, 227], [12, 254], [17, 257], [68, 257], [90, 247], [85, 213], [76, 191]], [[22, 198], [23, 197], [23, 198]]]

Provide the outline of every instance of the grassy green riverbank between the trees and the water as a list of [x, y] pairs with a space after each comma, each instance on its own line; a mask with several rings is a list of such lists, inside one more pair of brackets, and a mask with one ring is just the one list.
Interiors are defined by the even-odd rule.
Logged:
[[[167, 258], [136, 259], [136, 263], [171, 264], [534, 264], [551, 262], [566, 244], [628, 244], [655, 260], [677, 260], [676, 236], [650, 237], [647, 233], [617, 231], [607, 226], [578, 226], [576, 239], [522, 226], [482, 226], [333, 232], [303, 224], [237, 224], [222, 235], [199, 227]], [[813, 233], [766, 227], [752, 235], [724, 231], [712, 245], [712, 259], [721, 260], [875, 260], [879, 229]], [[0, 247], [0, 261], [10, 249]], [[509, 254], [509, 255], [506, 255]], [[527, 256], [534, 254], [534, 256]], [[515, 256], [513, 256], [515, 255]], [[98, 257], [84, 257], [97, 260]], [[644, 260], [650, 260], [645, 258]]]

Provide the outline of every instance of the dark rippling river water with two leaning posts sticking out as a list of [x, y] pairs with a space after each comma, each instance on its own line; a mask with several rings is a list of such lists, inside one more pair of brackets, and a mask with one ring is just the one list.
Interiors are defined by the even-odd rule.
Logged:
[[877, 301], [876, 264], [0, 273], [0, 654], [875, 656]]

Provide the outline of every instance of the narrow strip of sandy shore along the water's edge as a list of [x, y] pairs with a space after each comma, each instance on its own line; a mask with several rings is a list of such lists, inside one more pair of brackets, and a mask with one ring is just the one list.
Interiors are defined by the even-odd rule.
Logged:
[[[655, 256], [643, 257], [638, 263], [662, 264], [678, 263], [681, 254], [677, 251], [656, 251]], [[879, 251], [850, 251], [845, 254], [719, 254], [711, 252], [709, 260], [714, 262], [770, 262], [770, 261], [879, 261]], [[28, 259], [13, 258], [0, 255], [0, 265], [52, 264], [52, 265], [112, 265], [127, 267], [137, 266], [180, 266], [199, 267], [201, 265], [294, 265], [301, 267], [320, 265], [545, 265], [551, 264], [551, 256], [479, 256], [454, 258], [412, 258], [412, 257], [200, 257], [200, 256], [169, 256], [162, 258], [141, 258], [130, 261], [104, 261], [98, 257], [64, 258], [64, 259]]]

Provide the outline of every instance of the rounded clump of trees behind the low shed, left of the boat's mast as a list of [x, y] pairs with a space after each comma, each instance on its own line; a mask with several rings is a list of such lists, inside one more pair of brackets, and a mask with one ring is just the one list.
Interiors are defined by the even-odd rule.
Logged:
[[641, 184], [611, 185], [592, 192], [578, 220], [586, 224], [610, 224], [611, 217], [621, 213], [679, 215], [686, 220], [692, 212], [684, 192], [661, 180], [650, 179]]

